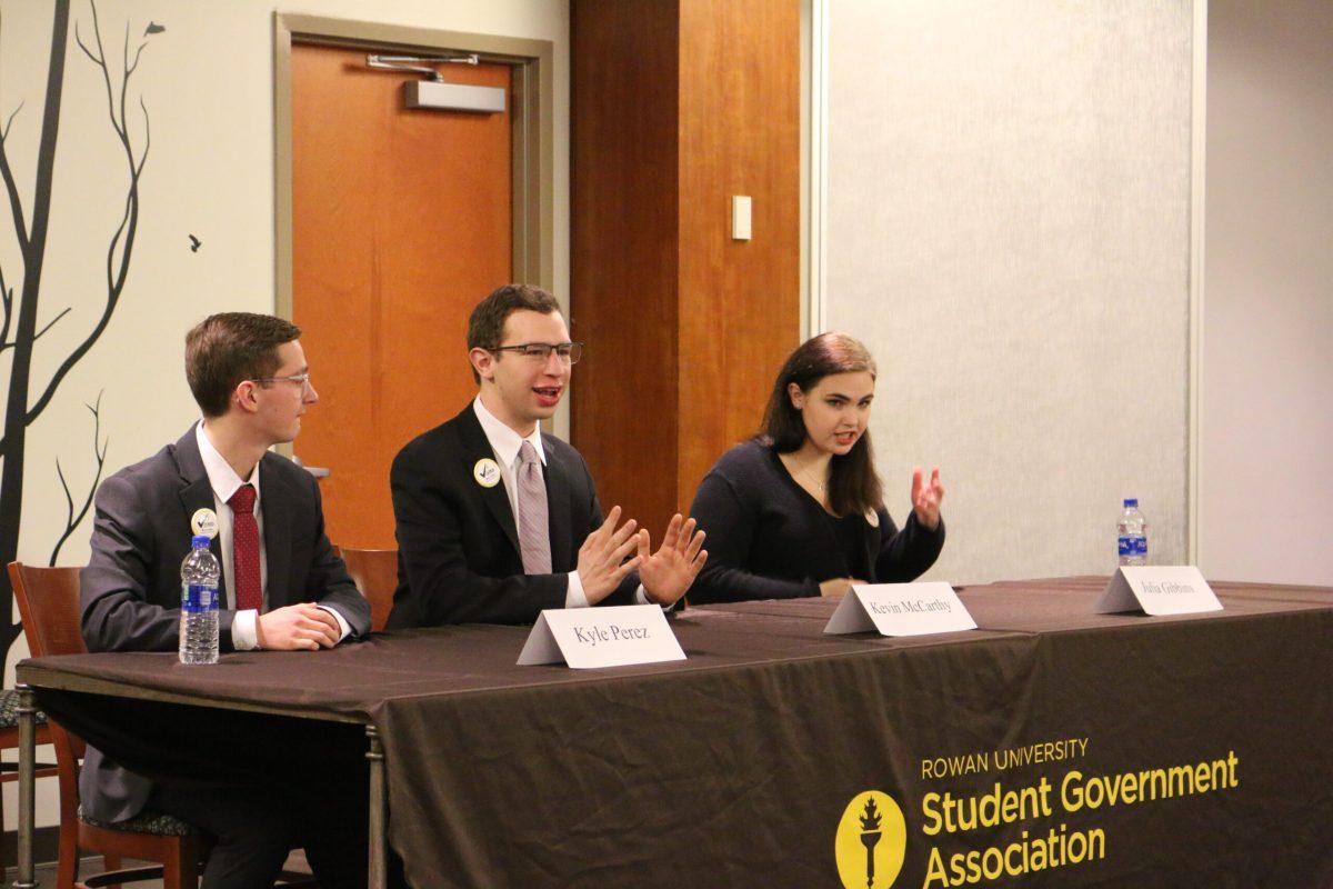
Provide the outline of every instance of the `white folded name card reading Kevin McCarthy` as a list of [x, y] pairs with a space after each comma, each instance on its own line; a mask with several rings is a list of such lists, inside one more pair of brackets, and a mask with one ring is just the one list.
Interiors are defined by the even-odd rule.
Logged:
[[977, 622], [942, 581], [924, 584], [868, 584], [853, 586], [833, 612], [825, 633], [926, 636], [976, 629]]

